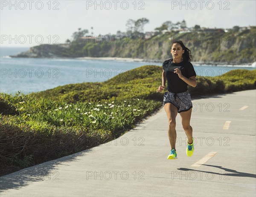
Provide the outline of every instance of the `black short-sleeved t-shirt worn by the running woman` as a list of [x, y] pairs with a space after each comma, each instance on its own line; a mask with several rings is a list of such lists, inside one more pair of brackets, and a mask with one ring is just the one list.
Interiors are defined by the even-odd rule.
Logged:
[[167, 79], [167, 90], [173, 93], [180, 93], [187, 91], [188, 84], [184, 82], [177, 73], [174, 73], [174, 69], [180, 69], [181, 74], [184, 77], [196, 76], [192, 63], [188, 60], [184, 60], [180, 63], [173, 63], [172, 59], [163, 62], [163, 70]]

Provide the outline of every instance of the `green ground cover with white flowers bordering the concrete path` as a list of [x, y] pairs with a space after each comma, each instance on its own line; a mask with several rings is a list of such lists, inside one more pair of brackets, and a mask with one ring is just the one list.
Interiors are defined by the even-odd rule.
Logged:
[[[162, 107], [160, 66], [142, 66], [102, 83], [32, 94], [0, 93], [0, 175], [114, 140]], [[192, 97], [256, 88], [256, 70], [197, 77]]]

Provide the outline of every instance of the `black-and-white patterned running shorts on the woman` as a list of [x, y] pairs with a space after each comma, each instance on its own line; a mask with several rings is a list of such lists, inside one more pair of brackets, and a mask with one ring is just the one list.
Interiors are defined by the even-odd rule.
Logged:
[[178, 113], [182, 111], [189, 111], [189, 109], [193, 107], [189, 91], [181, 93], [166, 91], [163, 94], [163, 106], [166, 103], [172, 103], [175, 107], [177, 107]]

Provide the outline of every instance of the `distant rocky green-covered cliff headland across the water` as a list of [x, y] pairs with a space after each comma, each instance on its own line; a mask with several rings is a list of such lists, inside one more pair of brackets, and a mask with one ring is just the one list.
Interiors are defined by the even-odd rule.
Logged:
[[180, 34], [166, 32], [148, 40], [75, 40], [69, 44], [31, 47], [29, 51], [11, 57], [130, 57], [160, 61], [171, 58], [173, 40], [182, 40], [191, 50], [193, 62], [251, 64], [256, 61], [256, 27], [244, 31], [194, 31]]

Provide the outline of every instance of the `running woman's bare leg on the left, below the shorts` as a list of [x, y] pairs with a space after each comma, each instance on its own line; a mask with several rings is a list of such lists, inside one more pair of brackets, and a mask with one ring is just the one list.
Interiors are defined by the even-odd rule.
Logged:
[[[166, 103], [164, 105], [164, 109], [166, 111], [166, 115], [168, 118], [168, 137], [169, 137], [169, 141], [170, 141], [170, 146], [171, 149], [175, 148], [175, 144], [176, 144], [176, 116], [178, 113], [177, 108], [172, 104], [172, 103]], [[176, 150], [176, 149], [175, 149]]]

